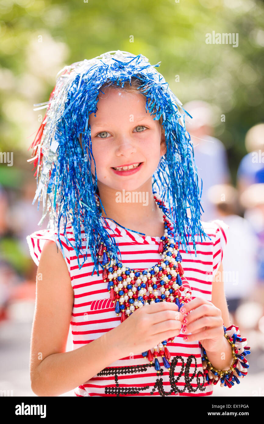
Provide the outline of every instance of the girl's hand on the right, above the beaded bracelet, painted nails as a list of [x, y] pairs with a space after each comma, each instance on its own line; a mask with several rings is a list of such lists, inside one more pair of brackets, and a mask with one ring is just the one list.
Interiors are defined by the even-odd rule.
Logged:
[[[192, 312], [185, 315], [189, 311]], [[184, 304], [180, 312], [184, 315], [183, 324], [185, 324], [182, 332], [186, 338], [183, 340], [199, 340], [208, 352], [217, 352], [221, 349], [225, 332], [220, 309], [211, 302], [196, 297]]]

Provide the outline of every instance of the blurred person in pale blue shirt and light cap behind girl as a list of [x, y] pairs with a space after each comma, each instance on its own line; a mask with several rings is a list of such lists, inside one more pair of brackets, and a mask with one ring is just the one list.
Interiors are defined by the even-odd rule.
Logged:
[[208, 201], [209, 188], [215, 184], [230, 182], [226, 149], [219, 139], [213, 137], [216, 119], [214, 109], [209, 103], [194, 100], [185, 103], [183, 108], [192, 116], [192, 119], [186, 120], [186, 129], [194, 146], [199, 181], [203, 181], [201, 206], [204, 212], [201, 219], [209, 221], [215, 218], [217, 212], [215, 205]]

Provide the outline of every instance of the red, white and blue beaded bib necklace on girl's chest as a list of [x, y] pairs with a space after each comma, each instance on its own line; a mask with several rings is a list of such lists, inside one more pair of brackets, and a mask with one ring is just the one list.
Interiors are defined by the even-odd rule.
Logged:
[[[160, 238], [158, 246], [161, 260], [156, 265], [144, 271], [131, 269], [123, 265], [121, 261], [111, 259], [110, 252], [107, 251], [103, 243], [100, 243], [98, 248], [98, 256], [103, 256], [101, 263], [103, 267], [102, 278], [104, 282], [108, 283], [107, 289], [110, 293], [110, 299], [113, 301], [116, 315], [121, 318], [121, 323], [142, 306], [167, 301], [175, 302], [179, 310], [183, 304], [192, 299], [189, 283], [183, 277], [182, 257], [179, 245], [174, 240], [172, 223], [165, 215], [169, 213], [169, 210], [165, 207], [163, 201], [157, 199], [156, 196], [154, 196], [154, 199], [164, 212], [164, 235]], [[97, 206], [100, 207], [99, 200], [96, 200]], [[122, 228], [126, 229], [125, 227]], [[138, 234], [143, 233], [138, 232]], [[158, 297], [160, 294], [158, 290], [161, 293], [160, 298]], [[148, 295], [147, 292], [149, 292]], [[166, 346], [169, 340], [173, 342], [174, 337], [154, 346], [153, 352], [150, 349], [142, 352], [142, 356], [147, 358], [150, 364], [154, 362], [154, 367], [158, 373], [161, 368], [158, 355], [162, 357], [165, 368], [170, 371], [171, 354]]]

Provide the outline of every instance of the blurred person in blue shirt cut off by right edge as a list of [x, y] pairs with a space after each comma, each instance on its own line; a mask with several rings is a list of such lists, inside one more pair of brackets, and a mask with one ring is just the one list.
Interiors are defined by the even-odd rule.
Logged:
[[264, 123], [247, 131], [245, 147], [248, 153], [241, 160], [236, 176], [240, 194], [251, 184], [264, 183]]

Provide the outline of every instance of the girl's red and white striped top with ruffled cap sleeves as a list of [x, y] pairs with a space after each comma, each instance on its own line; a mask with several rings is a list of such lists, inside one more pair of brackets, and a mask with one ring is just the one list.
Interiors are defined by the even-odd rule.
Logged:
[[[151, 268], [160, 260], [159, 237], [141, 236], [132, 230], [125, 230], [109, 218], [101, 220], [108, 234], [115, 237], [125, 266], [142, 271]], [[183, 259], [184, 277], [191, 287], [192, 298], [201, 297], [211, 301], [212, 279], [222, 261], [229, 226], [222, 220], [202, 221], [202, 225], [211, 240], [206, 238], [203, 243], [197, 243], [197, 256], [192, 243], [189, 243], [187, 253], [181, 243], [179, 248]], [[71, 224], [69, 223], [66, 228], [67, 237], [74, 244]], [[60, 231], [60, 237], [74, 290], [70, 323], [72, 349], [78, 349], [120, 325], [120, 316], [114, 311], [107, 283], [102, 279], [102, 268], [99, 267], [99, 276], [96, 271], [92, 275], [94, 263], [88, 254], [85, 263], [79, 269], [76, 252], [67, 245], [63, 229]], [[82, 247], [85, 248], [84, 231], [82, 237]], [[31, 257], [36, 265], [39, 265], [45, 240], [56, 240], [61, 250], [55, 230], [44, 229], [28, 235]], [[79, 261], [80, 264], [83, 263], [82, 254], [79, 255]], [[159, 288], [158, 282], [157, 285]], [[183, 337], [184, 334], [180, 332], [173, 343], [167, 343], [172, 361], [170, 371], [164, 367], [160, 356], [158, 360], [161, 370], [160, 374], [157, 374], [154, 364], [150, 365], [141, 353], [131, 352], [129, 357], [120, 358], [109, 364], [107, 368], [98, 371], [94, 377], [75, 388], [75, 396], [211, 396], [214, 385], [208, 385], [203, 375], [199, 342], [184, 341]]]

